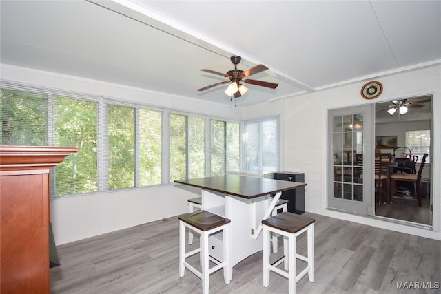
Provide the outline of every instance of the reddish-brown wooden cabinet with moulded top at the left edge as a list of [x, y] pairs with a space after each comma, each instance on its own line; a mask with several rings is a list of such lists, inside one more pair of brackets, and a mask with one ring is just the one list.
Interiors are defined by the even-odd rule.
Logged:
[[0, 146], [0, 293], [50, 293], [49, 171], [76, 151]]

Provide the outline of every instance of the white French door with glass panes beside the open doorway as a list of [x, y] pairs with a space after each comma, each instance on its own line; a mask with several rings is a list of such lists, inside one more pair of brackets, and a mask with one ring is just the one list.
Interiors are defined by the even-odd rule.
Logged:
[[328, 111], [327, 206], [373, 216], [373, 104]]

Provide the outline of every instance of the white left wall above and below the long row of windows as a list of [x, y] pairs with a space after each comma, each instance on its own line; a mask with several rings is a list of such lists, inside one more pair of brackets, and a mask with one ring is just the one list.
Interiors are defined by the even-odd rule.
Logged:
[[[242, 115], [240, 108], [217, 103], [10, 65], [1, 65], [0, 68], [3, 81], [123, 98], [231, 120], [240, 120]], [[165, 185], [53, 199], [50, 211], [55, 242], [57, 245], [64, 244], [176, 216], [187, 211], [187, 199], [198, 196], [198, 191], [192, 193], [174, 185]]]

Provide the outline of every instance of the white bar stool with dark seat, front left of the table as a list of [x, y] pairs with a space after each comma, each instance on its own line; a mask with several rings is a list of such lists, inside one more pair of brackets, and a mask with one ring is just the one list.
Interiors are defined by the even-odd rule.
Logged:
[[[189, 269], [194, 275], [202, 280], [202, 293], [208, 293], [209, 289], [209, 275], [223, 268], [223, 277], [225, 284], [229, 284], [232, 277], [231, 253], [228, 246], [230, 240], [230, 220], [223, 218], [208, 211], [199, 210], [193, 213], [185, 213], [178, 216], [179, 220], [179, 277], [184, 276], [185, 268]], [[185, 252], [185, 228], [201, 235], [200, 246], [189, 252]], [[215, 260], [209, 257], [208, 236], [223, 232], [223, 261]], [[190, 265], [186, 259], [192, 255], [200, 253], [201, 271], [198, 271], [194, 266]], [[216, 264], [211, 269], [209, 268], [209, 261]]]

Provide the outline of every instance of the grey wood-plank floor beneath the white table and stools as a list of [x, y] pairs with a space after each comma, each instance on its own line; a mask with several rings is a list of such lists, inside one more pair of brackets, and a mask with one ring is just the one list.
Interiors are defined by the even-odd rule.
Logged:
[[[312, 213], [305, 216], [316, 219], [315, 282], [303, 277], [297, 293], [441, 292], [441, 241]], [[305, 239], [302, 235], [298, 241], [302, 254]], [[50, 270], [52, 294], [201, 293], [201, 280], [191, 272], [178, 276], [176, 217], [63, 244], [57, 251], [61, 265]], [[222, 270], [210, 275], [210, 293], [287, 293], [287, 280], [273, 272], [269, 287], [263, 287], [262, 251], [233, 271], [228, 285]], [[415, 282], [424, 282], [426, 289], [409, 288]], [[398, 289], [397, 283], [407, 289]]]

